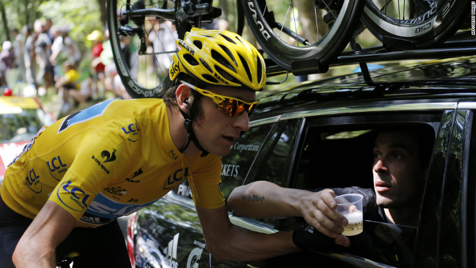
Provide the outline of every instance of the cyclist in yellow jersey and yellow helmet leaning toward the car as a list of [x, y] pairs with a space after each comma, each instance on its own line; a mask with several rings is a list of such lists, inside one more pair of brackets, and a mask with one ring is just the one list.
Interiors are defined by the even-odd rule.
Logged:
[[[299, 251], [292, 234], [231, 224], [221, 156], [249, 129], [265, 64], [228, 31], [192, 29], [173, 55], [164, 100], [111, 100], [44, 127], [7, 168], [0, 187], [2, 267], [130, 267], [117, 218], [188, 179], [207, 250], [253, 260]], [[21, 238], [20, 238], [21, 237]]]

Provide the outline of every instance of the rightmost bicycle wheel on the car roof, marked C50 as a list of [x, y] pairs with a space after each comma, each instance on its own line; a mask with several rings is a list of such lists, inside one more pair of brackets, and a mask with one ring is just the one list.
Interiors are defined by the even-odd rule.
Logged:
[[366, 0], [362, 22], [386, 47], [424, 49], [456, 33], [469, 0]]

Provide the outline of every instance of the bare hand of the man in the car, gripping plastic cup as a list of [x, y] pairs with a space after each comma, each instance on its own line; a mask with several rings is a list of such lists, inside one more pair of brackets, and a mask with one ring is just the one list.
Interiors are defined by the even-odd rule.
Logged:
[[[306, 222], [331, 238], [338, 238], [344, 231], [343, 226], [348, 223], [347, 219], [337, 211], [335, 197], [333, 190], [324, 189], [303, 199], [301, 205], [302, 215]], [[347, 243], [342, 241], [340, 244]]]

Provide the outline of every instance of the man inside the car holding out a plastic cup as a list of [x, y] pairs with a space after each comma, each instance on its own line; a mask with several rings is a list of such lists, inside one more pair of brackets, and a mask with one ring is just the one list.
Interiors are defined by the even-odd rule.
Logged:
[[[322, 234], [335, 238], [336, 244], [346, 247], [350, 246], [350, 240], [340, 233], [348, 221], [337, 212], [335, 200], [336, 196], [342, 194], [358, 193], [364, 196], [363, 213], [366, 220], [418, 226], [434, 138], [432, 129], [416, 126], [379, 131], [374, 142], [373, 189], [354, 186], [307, 191], [258, 181], [235, 188], [227, 203], [241, 216], [304, 217]], [[344, 162], [342, 169], [345, 169]], [[333, 179], [337, 180], [340, 174], [339, 170], [336, 171]], [[342, 176], [352, 176], [352, 172]], [[310, 225], [293, 233], [294, 243], [302, 249], [316, 246], [318, 238], [313, 238], [313, 227]]]

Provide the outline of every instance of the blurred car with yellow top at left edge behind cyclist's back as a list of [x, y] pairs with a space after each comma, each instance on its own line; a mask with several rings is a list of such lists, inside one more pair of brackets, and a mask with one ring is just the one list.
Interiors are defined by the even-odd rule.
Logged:
[[33, 97], [0, 96], [0, 183], [8, 164], [43, 126], [54, 121]]

